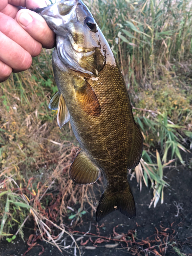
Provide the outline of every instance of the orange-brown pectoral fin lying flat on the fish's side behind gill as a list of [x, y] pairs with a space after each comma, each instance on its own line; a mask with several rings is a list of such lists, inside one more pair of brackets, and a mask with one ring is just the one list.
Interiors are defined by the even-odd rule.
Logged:
[[100, 115], [101, 108], [99, 101], [88, 81], [82, 80], [82, 82], [78, 84], [78, 87], [75, 87], [75, 92], [76, 98], [84, 112], [91, 116]]

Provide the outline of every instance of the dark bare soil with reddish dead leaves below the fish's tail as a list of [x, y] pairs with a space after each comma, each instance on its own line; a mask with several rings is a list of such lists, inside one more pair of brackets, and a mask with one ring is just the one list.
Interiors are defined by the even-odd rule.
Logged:
[[[82, 225], [71, 228], [71, 231], [77, 231], [74, 232], [74, 237], [77, 239], [75, 234], [81, 237], [83, 232], [87, 232], [91, 227], [87, 236], [77, 242], [81, 255], [192, 255], [192, 170], [178, 166], [165, 169], [164, 175], [168, 178], [171, 189], [164, 189], [164, 203], [161, 205], [158, 202], [156, 208], [153, 206], [148, 208], [153, 198], [152, 189], [149, 190], [143, 184], [140, 192], [136, 179], [130, 182], [137, 209], [137, 217], [134, 220], [129, 220], [119, 211], [115, 211], [97, 225], [95, 217], [84, 215]], [[174, 201], [183, 204], [179, 214]], [[20, 238], [16, 238], [13, 243], [1, 241], [0, 256], [24, 255], [29, 248], [27, 240], [31, 233], [34, 233], [32, 229], [25, 228], [25, 242]], [[95, 234], [95, 237], [90, 233]], [[110, 236], [116, 240], [110, 241]], [[74, 255], [74, 248], [60, 253], [56, 247], [48, 243], [40, 240], [36, 242], [39, 245], [29, 250], [26, 256]], [[72, 240], [67, 237], [66, 246], [71, 243]], [[95, 247], [93, 247], [94, 243]], [[106, 248], [115, 244], [116, 247]], [[43, 248], [45, 251], [41, 254]], [[76, 255], [79, 255], [78, 250]]]

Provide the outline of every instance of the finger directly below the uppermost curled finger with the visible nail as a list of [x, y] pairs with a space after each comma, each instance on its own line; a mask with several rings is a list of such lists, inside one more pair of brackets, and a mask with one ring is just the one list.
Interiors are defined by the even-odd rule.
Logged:
[[0, 13], [0, 31], [19, 46], [35, 57], [40, 54], [42, 46], [32, 36], [30, 36], [20, 25], [11, 17]]

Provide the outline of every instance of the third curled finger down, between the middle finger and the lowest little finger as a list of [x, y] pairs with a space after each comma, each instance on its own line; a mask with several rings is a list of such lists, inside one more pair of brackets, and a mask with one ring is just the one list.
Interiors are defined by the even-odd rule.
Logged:
[[0, 31], [0, 60], [20, 72], [29, 69], [32, 63], [31, 55], [21, 46]]

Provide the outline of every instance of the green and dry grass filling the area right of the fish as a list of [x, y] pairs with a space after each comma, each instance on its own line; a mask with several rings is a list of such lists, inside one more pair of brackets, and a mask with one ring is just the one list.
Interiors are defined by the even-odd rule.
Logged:
[[186, 137], [191, 141], [191, 2], [91, 2], [125, 77], [147, 150], [158, 147], [162, 156], [149, 172], [153, 163], [145, 151], [145, 160], [135, 169], [140, 188], [142, 178], [145, 185], [150, 178], [156, 206], [160, 197], [163, 202], [165, 185], [160, 165], [163, 170], [173, 158], [184, 165], [181, 151], [187, 152]]

